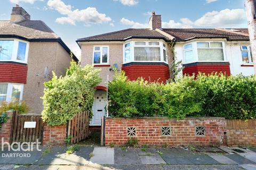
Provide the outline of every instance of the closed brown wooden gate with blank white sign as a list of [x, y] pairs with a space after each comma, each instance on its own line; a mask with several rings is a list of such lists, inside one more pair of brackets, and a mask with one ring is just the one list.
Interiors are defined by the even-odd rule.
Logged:
[[[26, 124], [33, 122], [35, 127], [25, 127]], [[44, 126], [41, 115], [19, 115], [18, 112], [13, 112], [12, 128], [10, 143], [12, 142], [43, 142]]]

